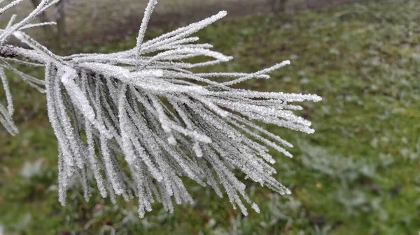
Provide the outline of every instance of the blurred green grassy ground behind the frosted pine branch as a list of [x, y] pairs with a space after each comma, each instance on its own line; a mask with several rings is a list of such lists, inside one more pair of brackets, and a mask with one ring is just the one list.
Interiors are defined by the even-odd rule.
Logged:
[[[23, 16], [37, 2], [27, 0], [15, 13]], [[38, 18], [57, 26], [30, 34], [57, 54], [127, 50], [135, 45], [146, 3], [62, 0]], [[136, 202], [113, 205], [97, 192], [85, 202], [74, 183], [63, 207], [45, 96], [11, 79], [20, 134], [10, 137], [0, 128], [0, 235], [420, 231], [420, 1], [160, 0], [146, 37], [219, 10], [228, 17], [197, 36], [235, 59], [205, 70], [253, 72], [290, 59], [271, 79], [241, 87], [323, 97], [300, 113], [313, 122], [314, 134], [265, 126], [295, 145], [294, 158], [272, 151], [275, 177], [292, 195], [244, 180], [261, 209], [244, 217], [227, 198], [186, 180], [194, 205], [176, 206], [174, 214], [155, 205], [140, 219]], [[0, 24], [9, 19], [1, 15]], [[42, 70], [30, 73], [43, 76]]]

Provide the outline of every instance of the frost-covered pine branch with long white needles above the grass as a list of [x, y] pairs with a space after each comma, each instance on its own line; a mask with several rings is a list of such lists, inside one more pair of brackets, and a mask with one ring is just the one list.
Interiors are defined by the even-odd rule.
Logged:
[[[22, 1], [3, 6], [0, 13]], [[174, 202], [193, 203], [182, 180], [188, 177], [203, 187], [210, 185], [220, 197], [224, 190], [234, 208], [239, 206], [245, 215], [243, 201], [258, 212], [232, 169], [281, 195], [290, 194], [272, 176], [276, 170], [270, 165], [274, 159], [269, 148], [291, 157], [285, 148], [292, 144], [253, 120], [311, 133], [311, 123], [293, 114], [302, 109], [294, 103], [321, 98], [231, 87], [248, 79], [267, 79], [268, 73], [289, 61], [256, 73], [193, 73], [194, 68], [232, 59], [212, 51], [209, 44], [197, 44], [198, 38], [192, 36], [226, 13], [144, 41], [155, 0], [148, 2], [132, 50], [58, 56], [25, 33], [25, 29], [53, 24], [30, 22], [57, 1], [41, 1], [23, 20], [15, 23], [13, 16], [0, 31], [0, 77], [8, 104], [0, 106], [0, 122], [10, 134], [18, 133], [3, 70], [46, 93], [59, 148], [59, 202], [65, 204], [69, 181], [78, 177], [85, 199], [90, 197], [90, 185], [96, 184], [102, 197], [114, 203], [117, 195], [137, 198], [140, 217], [152, 210], [155, 201], [173, 212]], [[7, 44], [10, 36], [31, 50]], [[186, 62], [195, 56], [207, 56], [209, 61]], [[17, 63], [45, 67], [45, 79], [22, 73], [13, 66]], [[221, 77], [231, 79], [216, 82]]]

